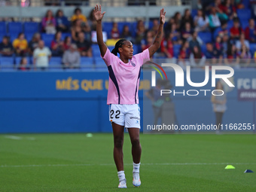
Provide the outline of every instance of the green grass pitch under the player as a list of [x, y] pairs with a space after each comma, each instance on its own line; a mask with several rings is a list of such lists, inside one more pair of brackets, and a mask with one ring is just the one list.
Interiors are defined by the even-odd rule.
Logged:
[[[133, 160], [126, 134], [127, 189], [117, 189], [111, 134], [12, 135], [19, 140], [6, 136], [0, 135], [1, 192], [256, 191], [256, 135], [142, 134], [142, 186], [138, 188], [132, 184]], [[228, 163], [236, 169], [224, 169]], [[254, 173], [243, 173], [245, 169]]]

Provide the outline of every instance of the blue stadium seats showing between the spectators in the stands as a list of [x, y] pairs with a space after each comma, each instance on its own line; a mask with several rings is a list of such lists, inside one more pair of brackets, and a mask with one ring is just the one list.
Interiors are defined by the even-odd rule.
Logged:
[[[206, 10], [207, 8], [209, 8], [209, 6], [211, 6], [213, 3], [213, 1], [209, 1], [207, 5], [202, 5], [200, 8], [203, 8], [203, 10]], [[221, 8], [224, 8], [224, 4], [221, 5]], [[232, 5], [235, 8], [236, 14], [237, 14], [237, 18], [239, 19], [239, 23], [241, 26], [241, 31], [243, 32], [243, 30], [245, 30], [246, 27], [248, 27], [248, 20], [250, 18], [254, 18], [254, 12], [251, 11], [250, 9], [250, 1], [249, 0], [244, 0], [242, 1], [242, 6], [240, 5], [236, 5], [233, 4]], [[190, 10], [190, 17], [192, 18], [192, 20], [194, 20], [194, 17], [197, 16], [197, 11], [199, 8], [193, 8]], [[71, 9], [70, 9], [71, 10]], [[71, 11], [72, 12], [72, 11]], [[206, 17], [208, 17], [209, 12], [204, 11], [206, 13]], [[53, 11], [53, 14], [54, 11]], [[167, 37], [169, 36], [169, 32], [173, 33], [174, 32], [178, 32], [178, 36], [176, 35], [175, 38], [172, 38], [172, 49], [171, 52], [173, 54], [173, 57], [178, 58], [179, 54], [180, 54], [180, 48], [181, 48], [181, 32], [183, 30], [183, 26], [184, 23], [187, 22], [187, 20], [184, 18], [184, 13], [180, 12], [181, 14], [181, 18], [179, 20], [175, 20], [174, 15], [172, 15], [172, 17], [166, 18], [166, 24], [164, 26], [165, 28], [165, 38], [163, 39], [163, 44], [166, 44], [167, 41]], [[70, 15], [69, 15], [70, 16]], [[41, 17], [42, 18], [42, 17]], [[235, 19], [237, 19], [235, 18]], [[70, 17], [69, 17], [70, 19]], [[153, 18], [152, 18], [153, 19]], [[170, 23], [167, 23], [168, 20], [170, 19]], [[84, 29], [82, 27], [82, 31], [85, 33], [85, 37], [87, 39], [87, 41], [91, 41], [91, 31], [93, 31], [93, 19], [91, 17], [88, 17], [88, 24], [90, 24], [90, 29]], [[227, 30], [230, 30], [233, 27], [233, 20], [229, 20], [229, 19], [225, 19], [225, 17], [220, 17], [221, 23], [227, 23]], [[171, 29], [170, 26], [172, 26], [172, 24], [175, 23], [176, 26], [178, 26], [176, 29]], [[72, 23], [71, 23], [72, 24]], [[192, 23], [194, 24], [194, 23]], [[72, 26], [72, 25], [71, 25]], [[102, 29], [107, 33], [108, 35], [108, 39], [111, 38], [111, 30], [112, 30], [112, 26], [113, 26], [113, 22], [110, 20], [106, 20], [105, 22], [102, 23]], [[137, 27], [137, 22], [134, 20], [131, 21], [118, 21], [117, 22], [117, 27], [118, 27], [118, 31], [121, 34], [123, 32], [123, 26], [128, 26], [130, 29], [130, 32], [132, 34], [132, 37], [134, 39], [134, 42], [137, 42], [137, 34], [136, 34], [136, 27]], [[142, 38], [142, 41], [139, 41], [140, 43], [135, 44], [133, 42], [133, 50], [134, 53], [140, 53], [142, 51], [142, 42], [144, 44], [147, 43], [147, 35], [148, 32], [152, 32], [152, 26], [153, 26], [153, 22], [152, 20], [148, 20], [145, 21], [145, 26], [147, 27], [146, 32], [144, 35], [144, 38]], [[194, 28], [195, 29], [195, 28]], [[193, 29], [193, 30], [194, 30]], [[175, 30], [175, 31], [172, 31]], [[192, 32], [193, 32], [192, 30]], [[211, 31], [209, 28], [206, 28], [206, 30], [204, 31], [200, 31], [198, 32], [198, 36], [200, 37], [200, 39], [203, 41], [203, 45], [201, 46], [201, 50], [203, 53], [206, 53], [206, 43], [212, 43], [213, 46], [215, 46], [215, 39], [217, 38], [218, 35], [220, 35], [219, 32], [221, 32], [221, 27], [218, 27], [217, 29], [215, 29], [214, 31]], [[0, 39], [2, 40], [2, 38], [5, 35], [8, 35], [8, 37], [10, 38], [10, 41], [14, 41], [15, 38], [17, 38], [17, 35], [20, 32], [24, 32], [26, 40], [29, 42], [32, 40], [33, 35], [36, 32], [40, 32], [41, 33], [41, 39], [44, 41], [45, 46], [50, 47], [51, 42], [53, 41], [54, 35], [53, 34], [47, 34], [41, 31], [41, 23], [40, 22], [35, 22], [35, 21], [1, 21], [0, 22]], [[154, 34], [154, 31], [153, 33]], [[62, 41], [67, 37], [72, 37], [72, 34], [69, 30], [69, 32], [65, 32], [62, 33]], [[187, 38], [187, 41], [190, 41], [190, 38]], [[75, 43], [75, 41], [73, 41], [73, 43]], [[229, 39], [228, 41], [229, 44], [235, 44], [236, 42], [233, 41], [233, 39]], [[255, 44], [252, 44], [254, 42], [251, 42], [250, 44], [250, 53], [251, 53], [251, 58], [253, 58], [254, 56], [254, 52], [256, 51], [256, 46]], [[68, 47], [65, 47], [65, 50]], [[110, 50], [112, 50], [114, 47], [112, 46], [108, 46], [108, 48]], [[93, 53], [93, 57], [89, 58], [89, 57], [81, 57], [81, 68], [101, 68], [102, 66], [104, 66], [104, 62], [102, 61], [101, 57], [100, 57], [100, 52], [99, 52], [99, 47], [97, 44], [92, 43], [91, 44], [91, 49], [92, 49], [92, 53]], [[239, 56], [240, 50], [236, 50], [236, 56]], [[227, 56], [227, 48], [225, 50], [222, 50], [222, 56]], [[27, 56], [32, 56], [32, 55], [27, 55]], [[158, 51], [157, 55], [155, 56], [155, 58], [166, 58], [166, 54]], [[187, 58], [188, 59], [188, 58]], [[13, 64], [18, 63], [20, 61], [20, 57], [14, 57], [14, 59], [8, 58], [8, 59], [1, 59], [1, 63], [8, 63], [11, 64], [11, 60], [13, 60]], [[29, 63], [30, 63], [29, 59]], [[61, 67], [61, 57], [52, 57], [50, 59], [50, 67], [51, 66], [59, 66]], [[57, 65], [58, 64], [58, 65]]]

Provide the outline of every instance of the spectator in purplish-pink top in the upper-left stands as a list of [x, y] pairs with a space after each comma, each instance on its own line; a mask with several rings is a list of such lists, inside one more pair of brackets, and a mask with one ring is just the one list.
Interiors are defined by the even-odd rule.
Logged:
[[45, 17], [42, 20], [42, 30], [47, 34], [55, 34], [56, 32], [56, 20], [53, 17], [53, 11], [48, 10]]

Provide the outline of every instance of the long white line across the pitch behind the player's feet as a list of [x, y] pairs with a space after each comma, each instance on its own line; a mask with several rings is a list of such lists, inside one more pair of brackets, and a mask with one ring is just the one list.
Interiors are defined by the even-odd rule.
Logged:
[[[256, 163], [142, 163], [142, 166], [209, 166], [209, 165], [254, 165]], [[124, 165], [133, 165], [133, 163], [124, 163]], [[41, 167], [41, 166], [114, 166], [114, 163], [105, 164], [48, 164], [48, 165], [1, 165], [5, 167]]]

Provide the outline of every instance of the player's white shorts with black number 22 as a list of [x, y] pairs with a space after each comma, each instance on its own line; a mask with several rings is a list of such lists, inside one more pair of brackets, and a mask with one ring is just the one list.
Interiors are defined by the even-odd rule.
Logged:
[[139, 104], [109, 105], [109, 120], [126, 128], [141, 128]]

